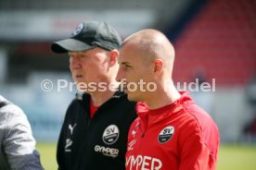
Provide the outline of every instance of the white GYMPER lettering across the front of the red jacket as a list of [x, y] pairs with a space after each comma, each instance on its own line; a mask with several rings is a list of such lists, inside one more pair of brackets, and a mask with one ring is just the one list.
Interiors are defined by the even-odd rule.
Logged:
[[162, 166], [160, 159], [152, 158], [150, 156], [130, 155], [126, 158], [126, 169], [145, 169], [145, 170], [159, 170]]

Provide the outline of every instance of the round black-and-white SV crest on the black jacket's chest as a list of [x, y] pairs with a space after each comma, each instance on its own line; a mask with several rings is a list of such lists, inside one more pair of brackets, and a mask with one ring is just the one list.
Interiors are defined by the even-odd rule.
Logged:
[[102, 140], [107, 145], [115, 143], [119, 138], [119, 128], [116, 125], [109, 125], [108, 128], [104, 130]]

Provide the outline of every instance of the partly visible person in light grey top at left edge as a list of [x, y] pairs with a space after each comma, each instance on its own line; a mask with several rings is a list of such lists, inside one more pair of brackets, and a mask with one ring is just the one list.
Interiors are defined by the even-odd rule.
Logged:
[[32, 129], [23, 111], [0, 95], [0, 169], [41, 170]]

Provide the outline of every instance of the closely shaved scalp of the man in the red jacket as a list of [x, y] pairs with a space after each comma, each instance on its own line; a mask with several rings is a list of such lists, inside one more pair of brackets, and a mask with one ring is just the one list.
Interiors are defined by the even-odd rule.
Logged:
[[140, 30], [129, 36], [122, 43], [133, 47], [134, 53], [139, 54], [145, 63], [150, 64], [156, 59], [161, 59], [164, 69], [172, 74], [174, 61], [173, 44], [159, 30]]

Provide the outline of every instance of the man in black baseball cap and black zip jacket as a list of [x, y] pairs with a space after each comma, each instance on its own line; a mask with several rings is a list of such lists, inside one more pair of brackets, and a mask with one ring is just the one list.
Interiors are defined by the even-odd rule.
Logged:
[[135, 103], [119, 91], [115, 78], [122, 40], [105, 22], [78, 25], [70, 38], [53, 42], [55, 53], [70, 55], [78, 89], [58, 139], [58, 169], [125, 169], [125, 152]]

